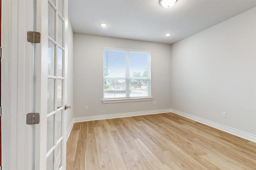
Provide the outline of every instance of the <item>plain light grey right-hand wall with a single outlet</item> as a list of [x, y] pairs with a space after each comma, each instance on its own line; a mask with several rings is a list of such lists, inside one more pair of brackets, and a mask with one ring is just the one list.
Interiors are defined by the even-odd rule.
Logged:
[[171, 51], [172, 109], [256, 135], [256, 8]]

